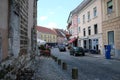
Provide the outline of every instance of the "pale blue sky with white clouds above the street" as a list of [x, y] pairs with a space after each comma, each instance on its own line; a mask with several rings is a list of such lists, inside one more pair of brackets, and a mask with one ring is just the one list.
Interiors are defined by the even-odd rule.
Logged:
[[83, 0], [38, 0], [37, 25], [66, 29], [70, 11]]

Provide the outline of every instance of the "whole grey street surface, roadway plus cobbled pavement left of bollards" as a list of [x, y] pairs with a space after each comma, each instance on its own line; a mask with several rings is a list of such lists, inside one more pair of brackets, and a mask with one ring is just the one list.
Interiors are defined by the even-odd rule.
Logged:
[[108, 60], [102, 57], [86, 55], [84, 57], [70, 56], [69, 52], [59, 52], [52, 49], [52, 54], [67, 63], [67, 70], [62, 70], [51, 57], [36, 57], [33, 80], [73, 80], [72, 68], [78, 68], [77, 80], [119, 80], [120, 63], [118, 60]]

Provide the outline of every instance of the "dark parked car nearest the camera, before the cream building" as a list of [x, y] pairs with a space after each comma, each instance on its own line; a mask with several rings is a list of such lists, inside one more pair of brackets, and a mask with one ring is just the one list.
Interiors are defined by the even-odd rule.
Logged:
[[85, 55], [84, 49], [82, 47], [71, 47], [70, 49], [70, 55]]

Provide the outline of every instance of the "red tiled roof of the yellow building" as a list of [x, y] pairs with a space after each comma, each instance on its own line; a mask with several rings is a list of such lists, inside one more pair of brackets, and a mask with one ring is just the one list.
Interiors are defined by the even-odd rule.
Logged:
[[43, 26], [36, 26], [36, 29], [37, 29], [38, 32], [41, 32], [41, 33], [55, 34], [56, 35], [56, 33], [50, 28], [46, 28], [46, 27], [43, 27]]

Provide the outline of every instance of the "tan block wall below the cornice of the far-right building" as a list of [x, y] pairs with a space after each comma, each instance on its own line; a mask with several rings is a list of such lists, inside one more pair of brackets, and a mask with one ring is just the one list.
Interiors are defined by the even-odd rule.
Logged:
[[120, 17], [103, 22], [103, 48], [108, 44], [108, 31], [114, 31], [114, 56], [120, 58]]

